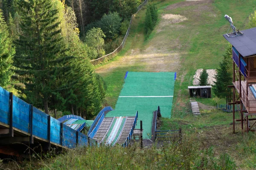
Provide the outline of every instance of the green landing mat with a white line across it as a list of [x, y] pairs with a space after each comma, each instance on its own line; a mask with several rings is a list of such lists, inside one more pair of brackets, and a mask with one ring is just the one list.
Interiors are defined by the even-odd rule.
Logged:
[[[143, 121], [143, 138], [151, 139], [153, 112], [161, 107], [163, 117], [171, 117], [174, 72], [128, 72], [114, 111], [106, 117], [134, 116]], [[140, 128], [140, 123], [136, 126]]]

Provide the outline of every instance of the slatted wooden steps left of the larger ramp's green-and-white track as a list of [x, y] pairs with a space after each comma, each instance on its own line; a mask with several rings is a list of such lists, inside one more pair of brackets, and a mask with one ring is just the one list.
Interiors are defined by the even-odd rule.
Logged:
[[99, 130], [97, 131], [96, 135], [93, 137], [93, 139], [95, 139], [98, 143], [100, 143], [108, 133], [108, 130], [111, 127], [113, 119], [114, 119], [113, 117], [104, 118], [102, 124], [99, 127]]

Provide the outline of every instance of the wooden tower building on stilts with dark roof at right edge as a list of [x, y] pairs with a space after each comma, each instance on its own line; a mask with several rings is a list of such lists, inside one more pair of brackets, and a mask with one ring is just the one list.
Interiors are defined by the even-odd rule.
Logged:
[[[227, 35], [224, 38], [232, 44], [233, 59], [233, 132], [235, 122], [241, 122], [242, 131], [252, 130], [256, 118], [256, 28], [241, 31], [242, 35]], [[236, 96], [235, 91], [239, 93]], [[235, 104], [240, 104], [240, 119], [235, 119]], [[250, 116], [250, 118], [249, 118]]]

